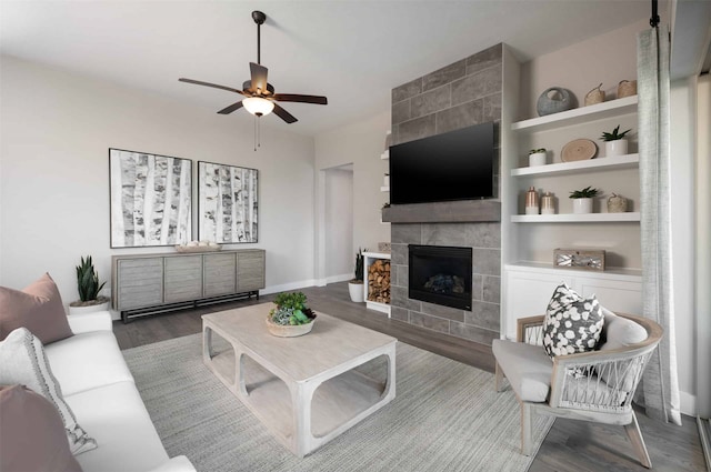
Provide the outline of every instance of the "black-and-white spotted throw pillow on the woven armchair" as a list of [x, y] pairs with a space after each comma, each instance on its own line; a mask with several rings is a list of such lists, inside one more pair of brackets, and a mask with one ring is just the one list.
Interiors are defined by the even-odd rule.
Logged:
[[585, 299], [561, 283], [543, 319], [543, 348], [551, 358], [592, 351], [598, 345], [604, 317], [595, 295]]

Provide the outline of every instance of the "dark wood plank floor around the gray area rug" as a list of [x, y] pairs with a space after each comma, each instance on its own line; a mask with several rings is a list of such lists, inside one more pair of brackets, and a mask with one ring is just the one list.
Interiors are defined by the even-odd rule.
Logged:
[[[308, 288], [301, 291], [307, 294], [309, 307], [317, 311], [339, 317], [390, 334], [408, 344], [493, 372], [494, 362], [491, 348], [420, 330], [407, 323], [390, 320], [383, 313], [365, 310], [364, 303], [350, 301], [346, 282], [333, 283], [324, 288]], [[264, 295], [259, 301], [251, 299], [206, 305], [141, 318], [128, 324], [114, 322], [113, 331], [121, 349], [134, 348], [198, 333], [202, 330], [200, 318], [202, 314], [263, 303], [272, 299], [273, 295]], [[684, 416], [682, 426], [650, 420], [643, 412], [638, 412], [638, 419], [652, 459], [653, 470], [663, 472], [705, 471], [694, 419]], [[632, 445], [622, 426], [557, 419], [529, 472], [645, 471], [647, 469], [640, 465], [633, 454]]]

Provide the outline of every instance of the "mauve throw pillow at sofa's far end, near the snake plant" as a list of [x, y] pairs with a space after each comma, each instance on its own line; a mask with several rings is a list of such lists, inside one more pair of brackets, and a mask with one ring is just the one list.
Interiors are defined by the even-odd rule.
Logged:
[[0, 340], [20, 327], [42, 344], [72, 334], [59, 290], [48, 273], [21, 291], [0, 287]]

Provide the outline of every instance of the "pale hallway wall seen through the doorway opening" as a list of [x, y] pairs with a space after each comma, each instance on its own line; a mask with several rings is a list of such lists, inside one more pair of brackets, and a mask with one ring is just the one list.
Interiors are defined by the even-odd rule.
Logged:
[[326, 171], [326, 277], [329, 282], [353, 278], [353, 170]]

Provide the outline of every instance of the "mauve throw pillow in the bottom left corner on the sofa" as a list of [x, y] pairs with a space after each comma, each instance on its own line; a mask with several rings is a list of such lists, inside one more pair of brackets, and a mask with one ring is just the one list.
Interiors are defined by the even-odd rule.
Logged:
[[54, 406], [22, 385], [0, 386], [0, 471], [81, 472]]

